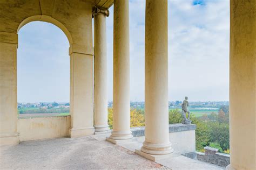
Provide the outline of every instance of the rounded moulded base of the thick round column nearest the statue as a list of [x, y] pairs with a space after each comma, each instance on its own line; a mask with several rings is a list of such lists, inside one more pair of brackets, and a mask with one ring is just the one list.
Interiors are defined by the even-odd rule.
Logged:
[[152, 144], [144, 141], [141, 151], [148, 154], [164, 155], [172, 153], [173, 148], [170, 142], [168, 144]]

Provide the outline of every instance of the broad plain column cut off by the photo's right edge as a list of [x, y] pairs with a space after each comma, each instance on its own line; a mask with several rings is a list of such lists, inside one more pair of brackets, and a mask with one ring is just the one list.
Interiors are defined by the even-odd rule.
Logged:
[[230, 1], [230, 165], [256, 169], [256, 3]]

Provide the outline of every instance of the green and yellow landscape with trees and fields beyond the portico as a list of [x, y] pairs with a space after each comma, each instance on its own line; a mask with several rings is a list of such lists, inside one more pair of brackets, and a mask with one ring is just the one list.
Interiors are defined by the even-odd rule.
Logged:
[[[112, 129], [113, 108], [108, 103], [108, 124]], [[144, 126], [144, 102], [131, 102], [131, 127]], [[169, 124], [181, 123], [181, 101], [169, 102]], [[18, 117], [67, 116], [70, 104], [18, 103]], [[230, 153], [228, 102], [190, 102], [191, 121], [197, 125], [196, 150], [204, 152], [205, 146], [218, 148], [219, 152]]]

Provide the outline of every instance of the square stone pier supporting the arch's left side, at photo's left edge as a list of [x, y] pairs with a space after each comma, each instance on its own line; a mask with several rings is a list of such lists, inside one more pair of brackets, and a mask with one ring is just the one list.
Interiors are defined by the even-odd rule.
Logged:
[[0, 32], [0, 145], [19, 143], [17, 133], [18, 34]]

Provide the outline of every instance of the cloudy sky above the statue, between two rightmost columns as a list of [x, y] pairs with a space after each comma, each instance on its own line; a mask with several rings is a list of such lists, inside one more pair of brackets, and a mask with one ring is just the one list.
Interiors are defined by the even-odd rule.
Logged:
[[228, 1], [169, 9], [169, 99], [228, 100]]

